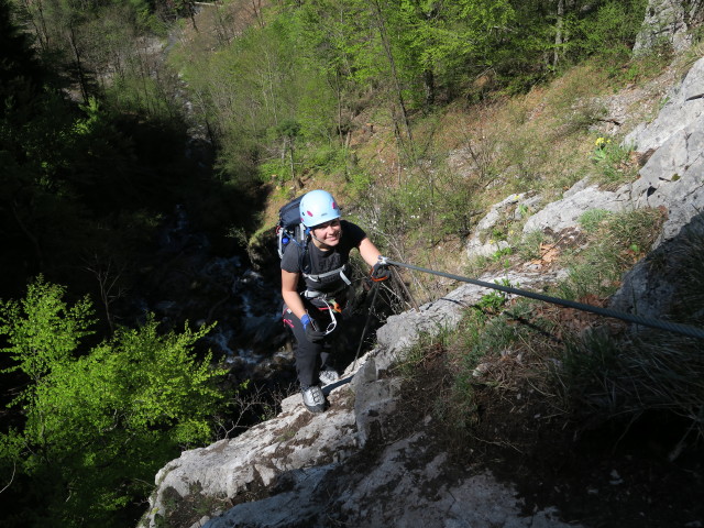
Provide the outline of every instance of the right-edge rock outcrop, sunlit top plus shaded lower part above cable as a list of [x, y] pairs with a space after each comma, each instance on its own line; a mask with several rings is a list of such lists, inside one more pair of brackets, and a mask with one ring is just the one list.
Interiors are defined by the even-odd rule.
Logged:
[[[650, 154], [636, 182], [613, 193], [579, 182], [561, 200], [530, 217], [524, 228], [526, 233], [578, 228], [580, 216], [597, 208], [666, 211], [667, 220], [651, 254], [624, 277], [610, 300], [617, 310], [656, 318], [676, 302], [678, 277], [686, 265], [681, 256], [690, 240], [704, 231], [704, 58], [670, 90], [667, 101], [652, 122], [636, 127], [624, 140], [636, 151]], [[659, 265], [653, 267], [656, 261]]]

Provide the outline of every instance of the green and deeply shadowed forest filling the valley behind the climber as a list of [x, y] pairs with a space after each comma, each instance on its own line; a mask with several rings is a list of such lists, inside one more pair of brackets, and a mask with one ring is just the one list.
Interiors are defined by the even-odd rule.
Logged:
[[[156, 471], [213, 438], [210, 327], [132, 304], [176, 207], [223, 254], [308, 182], [394, 255], [466, 237], [498, 167], [424, 170], [442, 112], [590, 61], [638, 75], [646, 3], [0, 0], [3, 526], [133, 525]], [[351, 145], [375, 127], [393, 182]]]

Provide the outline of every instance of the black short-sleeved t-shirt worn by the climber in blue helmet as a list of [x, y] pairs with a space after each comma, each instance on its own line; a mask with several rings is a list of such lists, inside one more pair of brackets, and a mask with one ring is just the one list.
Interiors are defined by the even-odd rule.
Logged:
[[[353, 248], [359, 248], [362, 240], [366, 238], [366, 233], [362, 228], [346, 220], [341, 220], [340, 226], [342, 228], [342, 235], [340, 237], [338, 245], [328, 251], [322, 251], [310, 240], [308, 242], [305, 262], [301, 262], [300, 258], [302, 249], [296, 243], [289, 243], [282, 258], [282, 270], [290, 273], [302, 273], [305, 271], [309, 274], [320, 275], [346, 264], [350, 260], [350, 251], [352, 251]], [[301, 270], [301, 265], [304, 270]], [[310, 270], [306, 270], [308, 265], [310, 265]], [[315, 289], [319, 292], [332, 292], [334, 288], [340, 287], [339, 278], [331, 277], [331, 279], [333, 280], [330, 283], [326, 280], [324, 284], [316, 285]]]

